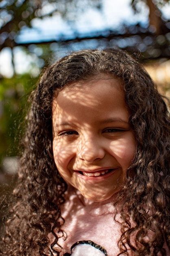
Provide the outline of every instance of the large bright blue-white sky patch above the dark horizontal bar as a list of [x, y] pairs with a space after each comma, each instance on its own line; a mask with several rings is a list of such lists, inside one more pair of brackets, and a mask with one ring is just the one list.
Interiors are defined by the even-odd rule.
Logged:
[[134, 15], [130, 2], [131, 0], [103, 0], [102, 11], [89, 9], [84, 13], [78, 13], [74, 26], [63, 21], [59, 15], [46, 18], [44, 21], [35, 19], [32, 23], [34, 29], [29, 30], [29, 33], [28, 30], [24, 31], [18, 37], [18, 41], [28, 42], [30, 38], [34, 38], [35, 41], [39, 38], [55, 40], [61, 35], [72, 37], [74, 32], [84, 34], [106, 28], [118, 29], [121, 23], [146, 23], [148, 10], [144, 7], [144, 4], [141, 4], [141, 13]]

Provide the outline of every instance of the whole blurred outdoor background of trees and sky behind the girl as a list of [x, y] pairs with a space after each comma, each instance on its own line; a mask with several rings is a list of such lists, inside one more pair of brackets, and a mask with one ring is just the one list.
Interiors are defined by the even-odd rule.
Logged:
[[105, 47], [138, 56], [170, 96], [170, 0], [0, 0], [1, 198], [15, 182], [26, 101], [42, 68]]

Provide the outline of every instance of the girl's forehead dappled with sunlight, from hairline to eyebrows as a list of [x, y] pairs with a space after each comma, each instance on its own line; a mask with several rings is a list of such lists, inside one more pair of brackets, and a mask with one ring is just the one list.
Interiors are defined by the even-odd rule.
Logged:
[[[93, 79], [87, 82], [74, 83], [65, 87], [54, 98], [52, 115], [67, 117], [81, 115], [100, 118], [114, 112], [116, 117], [127, 112], [122, 82], [113, 77]], [[87, 114], [93, 113], [93, 114]]]

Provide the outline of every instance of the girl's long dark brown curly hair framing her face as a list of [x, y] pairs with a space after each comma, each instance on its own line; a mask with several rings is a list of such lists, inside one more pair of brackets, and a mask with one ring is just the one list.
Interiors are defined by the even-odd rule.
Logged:
[[[18, 183], [13, 191], [15, 200], [9, 211], [1, 255], [60, 255], [54, 245], [58, 241], [56, 230], [64, 232], [60, 205], [67, 184], [53, 159], [52, 101], [56, 91], [99, 74], [122, 79], [137, 144], [134, 161], [126, 173], [127, 182], [118, 195], [118, 201], [122, 201], [120, 254], [129, 255], [130, 247], [135, 256], [165, 256], [163, 246], [170, 249], [168, 108], [137, 60], [124, 51], [104, 49], [63, 57], [46, 68], [32, 93]], [[147, 240], [150, 231], [153, 235]], [[49, 246], [50, 232], [55, 240]]]

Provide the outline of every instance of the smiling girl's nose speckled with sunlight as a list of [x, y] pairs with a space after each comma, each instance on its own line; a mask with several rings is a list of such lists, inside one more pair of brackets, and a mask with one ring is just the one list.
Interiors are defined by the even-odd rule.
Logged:
[[101, 145], [101, 141], [96, 141], [94, 138], [87, 139], [78, 146], [77, 157], [89, 163], [96, 159], [102, 159], [105, 156], [105, 150]]

